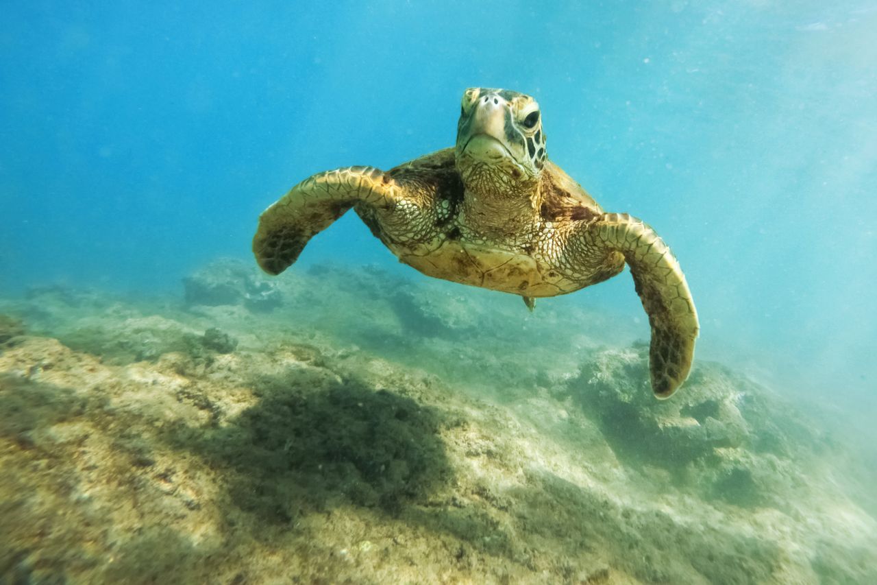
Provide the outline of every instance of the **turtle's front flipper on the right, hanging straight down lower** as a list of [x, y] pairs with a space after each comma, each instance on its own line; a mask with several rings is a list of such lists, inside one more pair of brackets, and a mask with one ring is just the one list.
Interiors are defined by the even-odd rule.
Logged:
[[606, 213], [588, 225], [587, 239], [624, 255], [652, 325], [649, 369], [658, 398], [688, 378], [700, 329], [679, 262], [652, 227], [626, 213]]

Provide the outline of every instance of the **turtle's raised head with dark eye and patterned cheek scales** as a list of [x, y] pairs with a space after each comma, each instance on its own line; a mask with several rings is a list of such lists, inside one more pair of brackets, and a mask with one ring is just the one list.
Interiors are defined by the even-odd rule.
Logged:
[[545, 133], [536, 100], [510, 90], [464, 91], [456, 158], [467, 186], [484, 179], [506, 186], [538, 180], [545, 164]]

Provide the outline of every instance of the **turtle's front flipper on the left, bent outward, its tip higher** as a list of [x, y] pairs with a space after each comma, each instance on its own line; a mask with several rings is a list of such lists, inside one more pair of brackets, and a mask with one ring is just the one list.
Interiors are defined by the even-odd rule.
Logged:
[[402, 190], [374, 167], [347, 167], [309, 177], [268, 207], [253, 236], [253, 254], [263, 271], [280, 274], [311, 237], [348, 209], [364, 203], [381, 209], [396, 205]]

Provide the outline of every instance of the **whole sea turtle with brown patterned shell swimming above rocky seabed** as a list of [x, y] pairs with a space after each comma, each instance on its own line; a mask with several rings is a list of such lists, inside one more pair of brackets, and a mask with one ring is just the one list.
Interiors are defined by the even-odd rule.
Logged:
[[463, 93], [457, 145], [388, 171], [318, 173], [267, 208], [253, 237], [279, 274], [353, 207], [404, 264], [427, 276], [524, 297], [573, 293], [626, 262], [652, 325], [652, 390], [688, 377], [697, 313], [679, 263], [641, 220], [602, 207], [545, 155], [539, 105], [510, 90]]

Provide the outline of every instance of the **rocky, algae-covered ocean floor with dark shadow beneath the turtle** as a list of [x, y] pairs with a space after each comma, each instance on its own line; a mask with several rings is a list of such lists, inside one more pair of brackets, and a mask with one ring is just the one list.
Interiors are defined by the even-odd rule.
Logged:
[[657, 401], [610, 316], [467, 291], [0, 300], [0, 583], [877, 582], [837, 423], [702, 360]]

